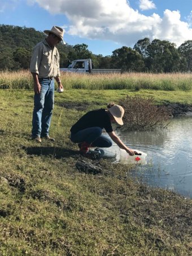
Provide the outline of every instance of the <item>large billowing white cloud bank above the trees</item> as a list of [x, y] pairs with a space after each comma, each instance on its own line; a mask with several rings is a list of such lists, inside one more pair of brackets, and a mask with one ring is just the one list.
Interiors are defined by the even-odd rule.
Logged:
[[[145, 16], [130, 7], [126, 0], [30, 0], [37, 2], [52, 14], [64, 14], [70, 24], [68, 34], [111, 40], [121, 45], [133, 46], [139, 39], [149, 37], [168, 40], [179, 46], [191, 40], [192, 29], [181, 21], [179, 11], [165, 10]], [[151, 1], [146, 1], [151, 2]], [[57, 24], [66, 28], [66, 24]]]

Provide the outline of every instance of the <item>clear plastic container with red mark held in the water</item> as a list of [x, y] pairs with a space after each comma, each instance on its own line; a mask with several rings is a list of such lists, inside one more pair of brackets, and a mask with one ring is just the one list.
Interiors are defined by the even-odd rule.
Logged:
[[142, 151], [139, 151], [137, 149], [133, 149], [137, 152], [135, 155], [129, 155], [126, 153], [124, 149], [120, 149], [120, 162], [121, 163], [131, 163], [131, 164], [146, 164], [146, 153], [143, 153]]

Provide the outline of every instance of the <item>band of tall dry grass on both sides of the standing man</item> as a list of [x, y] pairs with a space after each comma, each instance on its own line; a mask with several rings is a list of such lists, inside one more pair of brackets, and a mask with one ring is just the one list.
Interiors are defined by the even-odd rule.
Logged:
[[[182, 90], [192, 89], [191, 73], [114, 73], [114, 74], [80, 74], [61, 73], [65, 89], [152, 89]], [[29, 71], [0, 72], [0, 88], [32, 89], [33, 80]]]

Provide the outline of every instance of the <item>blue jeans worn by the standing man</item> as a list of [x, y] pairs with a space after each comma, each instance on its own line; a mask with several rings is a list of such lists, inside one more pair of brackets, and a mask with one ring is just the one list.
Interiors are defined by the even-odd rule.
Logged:
[[49, 135], [54, 107], [54, 79], [39, 79], [39, 82], [41, 92], [40, 94], [34, 94], [32, 136], [45, 137]]

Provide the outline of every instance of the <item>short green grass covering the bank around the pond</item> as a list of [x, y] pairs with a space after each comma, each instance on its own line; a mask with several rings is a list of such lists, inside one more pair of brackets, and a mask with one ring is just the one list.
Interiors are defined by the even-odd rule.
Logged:
[[[55, 93], [56, 142], [39, 145], [30, 140], [33, 92], [0, 90], [0, 255], [190, 255], [190, 199], [136, 183], [122, 164], [93, 161], [102, 169], [97, 175], [75, 166], [82, 157], [69, 141], [71, 125], [136, 93], [158, 103], [192, 101], [191, 92]], [[81, 111], [70, 109], [77, 103]]]

